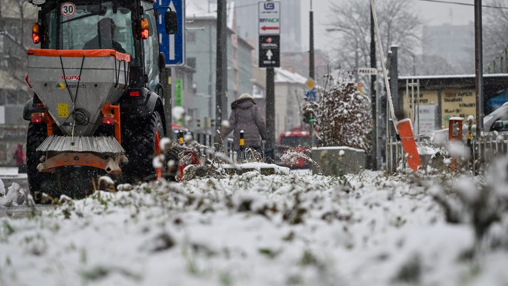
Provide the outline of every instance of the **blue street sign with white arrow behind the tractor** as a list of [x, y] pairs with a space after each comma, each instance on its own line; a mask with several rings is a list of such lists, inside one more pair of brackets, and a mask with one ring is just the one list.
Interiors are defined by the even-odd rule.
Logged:
[[166, 56], [167, 67], [180, 67], [185, 64], [185, 0], [156, 0], [155, 8], [170, 7], [176, 11], [178, 32], [175, 35], [166, 34], [164, 25], [164, 12], [167, 9], [158, 10], [161, 15], [157, 21], [159, 32], [159, 44], [161, 52]]

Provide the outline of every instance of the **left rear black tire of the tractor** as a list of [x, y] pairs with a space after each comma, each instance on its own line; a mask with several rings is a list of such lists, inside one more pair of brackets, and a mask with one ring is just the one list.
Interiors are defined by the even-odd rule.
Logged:
[[42, 192], [54, 195], [54, 174], [40, 173], [37, 170], [37, 165], [39, 165], [40, 158], [44, 153], [36, 150], [47, 137], [46, 123], [28, 124], [28, 132], [26, 133], [26, 174], [30, 194], [34, 196], [34, 200], [38, 204], [41, 202]]

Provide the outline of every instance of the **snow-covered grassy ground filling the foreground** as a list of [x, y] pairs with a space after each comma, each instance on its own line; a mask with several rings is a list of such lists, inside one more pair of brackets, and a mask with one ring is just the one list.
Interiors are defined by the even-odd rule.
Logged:
[[467, 259], [472, 228], [408, 177], [253, 171], [64, 198], [0, 219], [0, 285], [506, 285], [508, 248]]

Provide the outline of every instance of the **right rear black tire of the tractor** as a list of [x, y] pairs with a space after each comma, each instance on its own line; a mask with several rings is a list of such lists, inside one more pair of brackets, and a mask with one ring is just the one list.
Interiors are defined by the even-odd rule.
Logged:
[[[164, 137], [161, 116], [157, 111], [142, 119], [134, 119], [124, 125], [122, 147], [129, 162], [123, 166], [123, 180], [126, 183], [147, 182], [156, 180], [156, 170], [153, 167], [155, 152], [155, 134]], [[166, 166], [162, 168], [162, 178], [165, 178]]]

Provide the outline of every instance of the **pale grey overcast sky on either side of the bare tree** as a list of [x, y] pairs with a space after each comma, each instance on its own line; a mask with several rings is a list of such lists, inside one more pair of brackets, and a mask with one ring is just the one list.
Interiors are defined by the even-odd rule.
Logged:
[[[281, 0], [281, 1], [297, 1], [297, 0]], [[309, 46], [309, 9], [310, 0], [300, 0], [302, 2], [302, 46], [308, 50]], [[315, 34], [315, 48], [330, 50], [330, 41], [328, 39], [327, 32], [325, 31], [326, 23], [328, 19], [332, 19], [333, 15], [330, 13], [330, 2], [342, 3], [351, 0], [312, 0], [312, 8], [314, 10], [314, 34]], [[364, 0], [369, 1], [369, 0]], [[383, 0], [376, 0], [383, 1]], [[422, 17], [427, 25], [441, 25], [443, 23], [450, 23], [450, 11], [452, 11], [452, 19], [454, 25], [467, 24], [470, 21], [474, 21], [474, 7], [452, 5], [452, 4], [441, 4], [441, 3], [430, 3], [420, 0], [413, 1], [416, 5], [417, 10], [422, 11]], [[454, 2], [461, 2], [467, 4], [473, 4], [473, 0], [454, 0]], [[485, 1], [484, 1], [485, 2]], [[508, 2], [508, 1], [507, 1]], [[378, 19], [382, 21], [382, 19]]]

